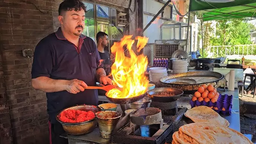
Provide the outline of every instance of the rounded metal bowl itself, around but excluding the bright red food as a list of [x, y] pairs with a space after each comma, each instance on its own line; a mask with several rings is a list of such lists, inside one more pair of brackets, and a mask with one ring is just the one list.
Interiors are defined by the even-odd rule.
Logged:
[[[63, 112], [64, 110], [67, 110], [67, 109], [84, 110], [86, 112], [92, 111], [94, 113], [101, 111], [100, 107], [98, 107], [98, 106], [82, 104], [82, 105], [68, 107], [66, 109], [63, 109], [61, 112]], [[56, 115], [56, 120], [62, 124], [64, 131], [71, 135], [82, 135], [82, 134], [87, 134], [89, 132], [92, 132], [98, 124], [96, 117], [94, 119], [88, 120], [86, 122], [79, 122], [79, 123], [62, 122], [59, 119], [60, 113], [58, 115]]]

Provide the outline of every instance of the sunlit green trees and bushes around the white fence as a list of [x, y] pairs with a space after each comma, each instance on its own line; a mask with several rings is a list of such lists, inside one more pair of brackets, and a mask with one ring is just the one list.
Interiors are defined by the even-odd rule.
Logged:
[[[243, 47], [235, 47], [235, 45], [252, 44], [250, 40], [250, 32], [256, 31], [256, 27], [241, 19], [230, 19], [216, 21], [216, 29], [212, 26], [213, 22], [203, 23], [203, 46], [205, 51], [213, 52], [213, 48], [206, 50], [207, 46], [222, 46], [214, 49], [214, 56], [212, 57], [225, 57], [225, 52], [228, 54], [242, 54]], [[201, 26], [199, 32], [201, 33]], [[198, 34], [198, 41], [201, 39], [201, 34]], [[225, 51], [224, 46], [227, 47]], [[235, 50], [234, 50], [235, 49]], [[218, 50], [218, 51], [217, 51]], [[253, 50], [253, 54], [256, 50]], [[207, 54], [204, 53], [204, 56]]]

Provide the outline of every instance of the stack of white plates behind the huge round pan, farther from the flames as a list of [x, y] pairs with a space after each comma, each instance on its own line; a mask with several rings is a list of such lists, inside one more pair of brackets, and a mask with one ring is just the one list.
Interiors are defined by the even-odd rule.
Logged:
[[188, 72], [187, 60], [173, 60], [172, 61], [172, 73]]

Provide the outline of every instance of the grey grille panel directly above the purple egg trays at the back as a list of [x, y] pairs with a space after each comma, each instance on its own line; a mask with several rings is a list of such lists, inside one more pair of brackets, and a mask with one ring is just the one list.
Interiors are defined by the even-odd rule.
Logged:
[[178, 50], [178, 44], [156, 44], [156, 56], [161, 58], [172, 58], [174, 51]]

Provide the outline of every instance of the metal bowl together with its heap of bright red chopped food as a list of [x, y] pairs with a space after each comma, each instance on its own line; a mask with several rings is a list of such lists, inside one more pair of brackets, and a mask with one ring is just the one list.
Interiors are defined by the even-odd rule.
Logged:
[[68, 107], [56, 115], [65, 132], [71, 135], [82, 135], [92, 132], [97, 126], [95, 113], [100, 107], [93, 105], [77, 105]]

